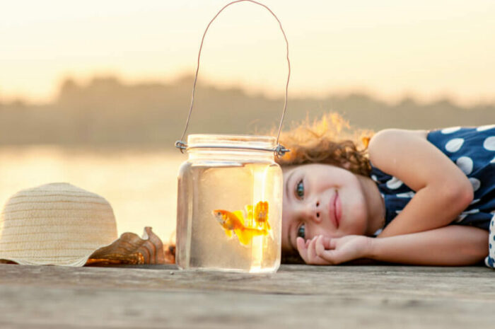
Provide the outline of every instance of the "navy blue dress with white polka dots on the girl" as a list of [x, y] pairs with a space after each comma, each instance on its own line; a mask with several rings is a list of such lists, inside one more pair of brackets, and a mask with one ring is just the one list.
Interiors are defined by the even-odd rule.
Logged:
[[[474, 190], [474, 200], [452, 224], [476, 226], [490, 231], [489, 256], [485, 262], [495, 267], [495, 125], [474, 128], [452, 127], [432, 130], [427, 139], [450, 158]], [[385, 226], [414, 197], [401, 180], [380, 171], [371, 163], [371, 179], [385, 200]], [[493, 246], [493, 248], [492, 248]]]

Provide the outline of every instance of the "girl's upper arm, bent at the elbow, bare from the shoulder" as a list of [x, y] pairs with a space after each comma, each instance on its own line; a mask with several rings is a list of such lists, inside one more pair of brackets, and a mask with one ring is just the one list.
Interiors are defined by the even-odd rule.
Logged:
[[416, 191], [380, 237], [446, 226], [472, 202], [472, 185], [466, 175], [425, 135], [386, 129], [370, 141], [368, 151], [373, 166]]

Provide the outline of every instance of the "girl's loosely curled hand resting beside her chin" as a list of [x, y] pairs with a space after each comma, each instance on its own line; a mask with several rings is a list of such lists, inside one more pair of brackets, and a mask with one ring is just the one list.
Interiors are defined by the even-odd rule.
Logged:
[[315, 236], [308, 241], [301, 237], [296, 239], [299, 255], [306, 264], [312, 265], [337, 265], [365, 258], [371, 253], [372, 242], [373, 238], [368, 236]]

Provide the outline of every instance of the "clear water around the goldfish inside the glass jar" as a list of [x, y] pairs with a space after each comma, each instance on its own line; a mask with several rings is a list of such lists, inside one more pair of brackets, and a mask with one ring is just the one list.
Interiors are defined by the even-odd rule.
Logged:
[[[177, 202], [177, 265], [275, 272], [281, 256], [281, 189], [281, 169], [274, 163], [183, 163]], [[248, 214], [249, 207], [254, 210], [260, 204], [267, 205], [263, 218], [267, 224]], [[243, 216], [245, 227], [254, 229], [248, 229], [247, 236], [241, 236], [245, 231], [226, 229], [214, 214], [218, 209]]]

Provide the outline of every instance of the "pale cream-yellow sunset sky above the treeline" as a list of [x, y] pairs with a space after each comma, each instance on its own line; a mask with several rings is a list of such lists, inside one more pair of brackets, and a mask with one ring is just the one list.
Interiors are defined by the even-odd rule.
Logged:
[[[48, 102], [71, 76], [87, 83], [170, 82], [193, 74], [223, 0], [0, 0], [0, 102]], [[363, 91], [495, 101], [493, 0], [262, 0], [289, 40], [289, 96]], [[229, 6], [211, 25], [200, 81], [284, 93], [284, 38], [261, 6]]]

